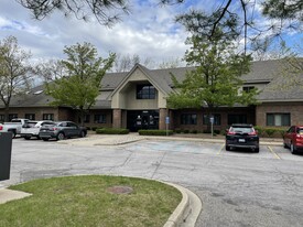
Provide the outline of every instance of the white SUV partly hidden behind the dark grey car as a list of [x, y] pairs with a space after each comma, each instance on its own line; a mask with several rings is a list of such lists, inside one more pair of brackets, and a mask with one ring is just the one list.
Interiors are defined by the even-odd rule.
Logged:
[[55, 122], [50, 120], [30, 120], [22, 127], [20, 136], [25, 140], [30, 140], [32, 137], [40, 139], [39, 132], [43, 126], [55, 126]]

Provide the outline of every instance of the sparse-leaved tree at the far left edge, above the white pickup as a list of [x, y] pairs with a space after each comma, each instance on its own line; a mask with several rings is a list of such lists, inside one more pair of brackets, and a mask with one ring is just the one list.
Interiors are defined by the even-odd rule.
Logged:
[[9, 120], [11, 98], [24, 95], [32, 83], [30, 53], [21, 50], [14, 36], [0, 41], [0, 99], [4, 105], [4, 120]]

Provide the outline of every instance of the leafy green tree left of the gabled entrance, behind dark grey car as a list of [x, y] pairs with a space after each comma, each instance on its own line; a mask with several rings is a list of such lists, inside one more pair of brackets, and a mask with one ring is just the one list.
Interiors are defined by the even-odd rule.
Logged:
[[109, 54], [108, 58], [98, 57], [96, 47], [90, 43], [66, 46], [64, 53], [67, 60], [62, 64], [67, 75], [46, 83], [46, 94], [54, 98], [51, 105], [78, 110], [83, 125], [85, 111], [95, 105], [101, 79], [112, 66], [115, 54]]

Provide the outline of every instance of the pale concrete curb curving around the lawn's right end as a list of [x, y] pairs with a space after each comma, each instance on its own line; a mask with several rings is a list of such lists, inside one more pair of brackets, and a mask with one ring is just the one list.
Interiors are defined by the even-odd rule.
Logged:
[[164, 227], [194, 227], [202, 210], [202, 202], [190, 190], [176, 184], [163, 182], [182, 193], [182, 201], [170, 216]]

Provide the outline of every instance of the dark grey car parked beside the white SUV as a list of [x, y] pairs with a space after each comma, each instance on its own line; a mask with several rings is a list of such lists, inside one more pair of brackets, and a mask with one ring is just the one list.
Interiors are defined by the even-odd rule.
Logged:
[[43, 126], [39, 132], [39, 137], [47, 141], [50, 139], [64, 140], [73, 137], [86, 137], [87, 129], [79, 127], [72, 121], [56, 122], [55, 126]]

